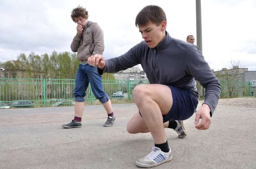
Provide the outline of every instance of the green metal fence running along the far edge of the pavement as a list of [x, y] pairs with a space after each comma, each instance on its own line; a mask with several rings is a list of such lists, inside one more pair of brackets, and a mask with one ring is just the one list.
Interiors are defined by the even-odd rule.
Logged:
[[[138, 84], [148, 84], [148, 81], [102, 80], [103, 89], [111, 100], [132, 100], [132, 90]], [[221, 86], [222, 98], [256, 94], [256, 82], [254, 81], [221, 81]], [[0, 102], [3, 105], [15, 105], [19, 102], [17, 106], [31, 106], [26, 105], [29, 103], [25, 100], [32, 101], [33, 106], [74, 105], [73, 90], [74, 79], [0, 78]], [[90, 86], [86, 91], [85, 102], [87, 104], [98, 102]]]

